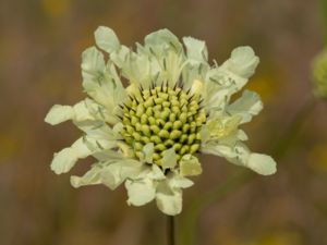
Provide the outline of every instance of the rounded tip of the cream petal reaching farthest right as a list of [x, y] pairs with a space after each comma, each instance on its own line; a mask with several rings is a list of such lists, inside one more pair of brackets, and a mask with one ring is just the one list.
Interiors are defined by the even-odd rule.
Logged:
[[247, 159], [247, 167], [263, 175], [270, 175], [277, 171], [276, 161], [270, 156], [263, 154], [251, 154]]

